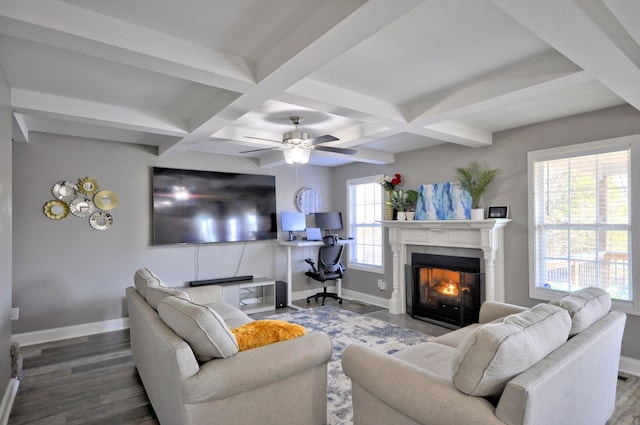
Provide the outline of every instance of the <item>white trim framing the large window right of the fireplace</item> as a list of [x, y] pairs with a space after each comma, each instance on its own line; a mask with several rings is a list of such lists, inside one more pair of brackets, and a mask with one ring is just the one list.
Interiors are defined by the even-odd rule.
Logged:
[[544, 301], [550, 301], [568, 292], [554, 289], [541, 288], [535, 282], [535, 214], [532, 209], [535, 205], [534, 199], [534, 163], [551, 159], [568, 158], [596, 153], [605, 153], [630, 148], [630, 177], [629, 192], [637, 193], [631, 196], [631, 301], [612, 300], [613, 308], [625, 313], [640, 315], [640, 267], [635, 267], [634, 263], [640, 258], [640, 222], [635, 220], [640, 216], [640, 167], [633, 164], [640, 164], [640, 135], [617, 137], [614, 139], [600, 140], [596, 142], [579, 143], [557, 148], [531, 151], [527, 153], [527, 183], [528, 183], [528, 233], [529, 233], [529, 297]]

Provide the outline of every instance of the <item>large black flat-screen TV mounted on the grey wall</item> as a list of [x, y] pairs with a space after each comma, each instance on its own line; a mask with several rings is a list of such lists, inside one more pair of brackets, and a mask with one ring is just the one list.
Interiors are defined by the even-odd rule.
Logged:
[[277, 238], [275, 176], [153, 167], [153, 244]]

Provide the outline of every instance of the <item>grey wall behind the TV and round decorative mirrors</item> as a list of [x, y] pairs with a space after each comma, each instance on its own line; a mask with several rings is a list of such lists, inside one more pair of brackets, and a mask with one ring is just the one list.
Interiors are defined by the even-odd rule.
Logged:
[[[146, 146], [32, 133], [28, 144], [13, 145], [13, 304], [20, 307], [13, 333], [126, 316], [124, 289], [140, 267], [170, 286], [196, 279], [194, 245], [150, 246], [150, 167], [155, 165], [271, 174], [279, 211], [295, 210], [295, 193], [302, 186], [317, 188], [324, 207], [331, 209], [330, 170], [322, 167], [263, 169], [250, 159], [194, 153], [158, 158]], [[106, 231], [93, 230], [87, 219], [69, 215], [54, 221], [43, 214], [54, 183], [86, 176], [118, 196], [113, 226]], [[300, 272], [308, 256], [304, 251], [294, 253]], [[199, 279], [286, 276], [286, 250], [275, 242], [201, 245], [198, 258]], [[300, 275], [294, 291], [315, 287]]]

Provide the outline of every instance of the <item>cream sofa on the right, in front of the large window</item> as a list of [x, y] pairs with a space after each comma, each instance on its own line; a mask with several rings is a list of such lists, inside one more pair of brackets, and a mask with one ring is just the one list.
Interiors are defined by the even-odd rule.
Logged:
[[626, 320], [603, 292], [532, 309], [485, 302], [480, 324], [393, 355], [348, 346], [354, 424], [603, 425]]

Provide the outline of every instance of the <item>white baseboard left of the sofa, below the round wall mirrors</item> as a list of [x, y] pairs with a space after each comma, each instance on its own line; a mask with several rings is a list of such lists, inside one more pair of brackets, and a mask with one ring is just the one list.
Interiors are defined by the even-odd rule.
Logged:
[[129, 327], [129, 318], [105, 320], [102, 322], [83, 323], [82, 325], [66, 326], [63, 328], [45, 329], [42, 331], [25, 332], [11, 335], [12, 341], [21, 346], [42, 344], [44, 342], [59, 341], [61, 339], [77, 338], [81, 336], [117, 331]]

